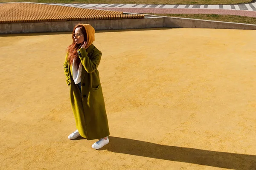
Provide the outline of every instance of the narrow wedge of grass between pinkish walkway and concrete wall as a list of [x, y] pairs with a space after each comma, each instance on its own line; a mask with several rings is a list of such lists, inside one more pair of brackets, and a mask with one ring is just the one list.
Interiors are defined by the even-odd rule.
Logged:
[[236, 15], [218, 15], [218, 14], [151, 14], [151, 15], [193, 18], [193, 19], [200, 19], [200, 20], [214, 20], [214, 21], [224, 21], [224, 22], [232, 22], [232, 23], [256, 24], [255, 17], [242, 17], [242, 16], [236, 16]]

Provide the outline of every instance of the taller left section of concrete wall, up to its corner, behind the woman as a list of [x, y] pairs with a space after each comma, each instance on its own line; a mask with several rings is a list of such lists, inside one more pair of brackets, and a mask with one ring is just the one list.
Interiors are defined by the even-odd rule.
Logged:
[[54, 21], [42, 23], [6, 23], [0, 24], [0, 34], [35, 33], [73, 31], [78, 23], [88, 23], [95, 30], [157, 28], [164, 27], [163, 18], [143, 18], [124, 20], [83, 20], [83, 21]]

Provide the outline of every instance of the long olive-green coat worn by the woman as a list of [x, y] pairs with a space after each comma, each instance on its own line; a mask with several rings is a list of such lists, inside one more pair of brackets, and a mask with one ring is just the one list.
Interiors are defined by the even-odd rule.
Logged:
[[67, 85], [70, 85], [70, 102], [76, 120], [76, 128], [80, 135], [87, 140], [101, 139], [109, 136], [108, 118], [102, 87], [97, 70], [102, 53], [90, 45], [89, 48], [81, 48], [78, 51], [82, 64], [81, 93], [72, 77], [72, 65], [64, 62], [64, 72]]

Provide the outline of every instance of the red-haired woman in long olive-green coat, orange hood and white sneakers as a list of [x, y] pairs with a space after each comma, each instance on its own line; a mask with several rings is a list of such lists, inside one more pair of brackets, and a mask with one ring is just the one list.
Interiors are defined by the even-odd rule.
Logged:
[[108, 118], [97, 70], [102, 53], [92, 44], [95, 30], [89, 24], [78, 24], [72, 34], [73, 42], [67, 48], [64, 72], [70, 86], [70, 101], [77, 130], [68, 136], [76, 139], [100, 139], [92, 147], [108, 144]]

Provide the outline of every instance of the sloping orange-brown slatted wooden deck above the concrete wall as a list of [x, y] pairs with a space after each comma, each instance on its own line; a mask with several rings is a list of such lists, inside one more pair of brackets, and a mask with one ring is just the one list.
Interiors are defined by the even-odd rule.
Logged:
[[0, 23], [144, 18], [143, 14], [38, 3], [0, 3]]

